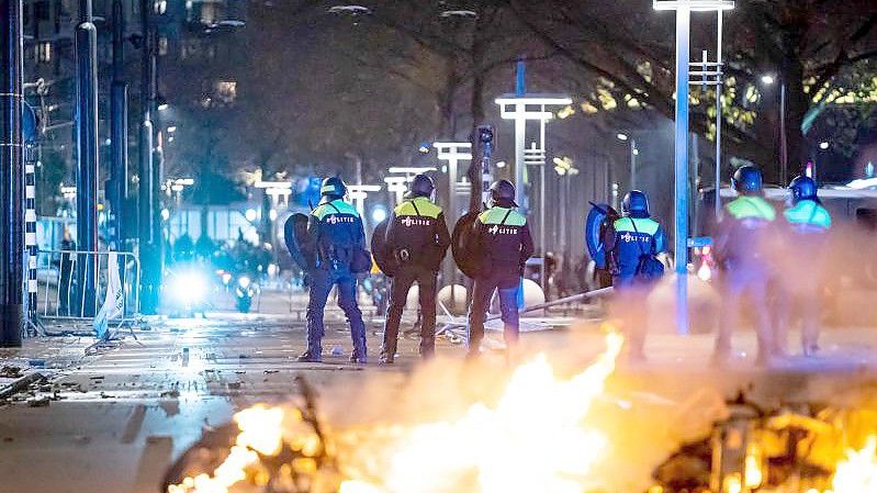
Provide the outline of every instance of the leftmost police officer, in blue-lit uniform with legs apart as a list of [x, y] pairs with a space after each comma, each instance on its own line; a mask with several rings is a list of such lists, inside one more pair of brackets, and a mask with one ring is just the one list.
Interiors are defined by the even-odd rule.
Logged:
[[366, 325], [357, 305], [356, 274], [371, 265], [366, 251], [366, 234], [357, 210], [344, 201], [347, 187], [338, 177], [323, 180], [319, 204], [307, 222], [308, 248], [316, 256], [308, 269], [310, 300], [307, 303], [307, 350], [299, 361], [319, 362], [323, 359], [323, 312], [334, 285], [338, 287], [338, 306], [350, 323], [353, 352], [350, 362], [364, 363]]

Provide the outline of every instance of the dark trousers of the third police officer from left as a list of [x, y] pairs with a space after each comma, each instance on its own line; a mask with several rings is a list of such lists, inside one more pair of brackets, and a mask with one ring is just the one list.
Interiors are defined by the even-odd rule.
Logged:
[[501, 282], [496, 278], [477, 278], [472, 288], [472, 305], [469, 307], [469, 352], [479, 352], [481, 341], [484, 339], [484, 320], [491, 298], [496, 290], [499, 294], [499, 313], [505, 324], [503, 336], [506, 347], [513, 347], [518, 341], [518, 289], [520, 284]]

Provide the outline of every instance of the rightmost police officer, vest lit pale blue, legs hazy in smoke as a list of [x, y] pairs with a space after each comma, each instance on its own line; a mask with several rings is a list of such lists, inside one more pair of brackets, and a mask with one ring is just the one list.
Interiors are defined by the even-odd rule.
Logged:
[[812, 178], [799, 176], [789, 183], [789, 206], [783, 213], [786, 239], [779, 258], [780, 294], [777, 302], [775, 354], [785, 355], [790, 323], [789, 311], [797, 305], [801, 315], [801, 345], [805, 356], [819, 349], [819, 322], [822, 316], [819, 290], [828, 258], [831, 214], [822, 206]]

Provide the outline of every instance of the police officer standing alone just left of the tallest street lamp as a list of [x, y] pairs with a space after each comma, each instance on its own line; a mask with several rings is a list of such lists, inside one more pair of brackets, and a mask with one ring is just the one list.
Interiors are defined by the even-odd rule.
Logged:
[[654, 258], [664, 251], [666, 235], [651, 219], [649, 198], [640, 190], [625, 195], [621, 213], [606, 229], [604, 244], [628, 338], [628, 355], [630, 359], [642, 360], [648, 325], [645, 299], [654, 281], [649, 272], [643, 272], [643, 257]]

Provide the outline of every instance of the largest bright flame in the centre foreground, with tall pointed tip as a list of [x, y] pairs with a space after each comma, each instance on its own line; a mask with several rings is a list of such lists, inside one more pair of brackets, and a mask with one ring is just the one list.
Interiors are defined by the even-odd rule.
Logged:
[[589, 473], [609, 440], [587, 422], [588, 411], [623, 338], [612, 333], [606, 341], [606, 351], [569, 380], [539, 356], [515, 370], [493, 406], [477, 403], [454, 421], [386, 430], [381, 438], [389, 444], [372, 447], [379, 457], [371, 457], [370, 469], [379, 479], [355, 477], [340, 492], [581, 493], [598, 486]]

